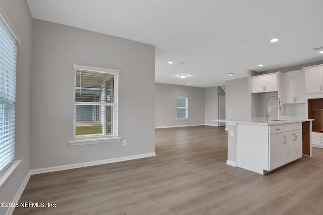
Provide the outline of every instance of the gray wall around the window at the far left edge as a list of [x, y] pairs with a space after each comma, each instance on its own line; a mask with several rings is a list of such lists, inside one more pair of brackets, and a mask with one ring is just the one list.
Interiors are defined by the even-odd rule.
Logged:
[[[24, 158], [15, 172], [0, 187], [0, 202], [11, 202], [30, 169], [30, 74], [32, 18], [26, 1], [0, 0], [0, 6], [21, 38], [17, 50], [16, 140], [15, 157]], [[0, 208], [5, 214], [7, 208]]]

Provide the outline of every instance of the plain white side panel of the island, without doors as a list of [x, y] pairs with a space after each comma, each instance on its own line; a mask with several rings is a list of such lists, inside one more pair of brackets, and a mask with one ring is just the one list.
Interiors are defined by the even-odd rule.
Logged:
[[237, 123], [237, 166], [263, 174], [268, 170], [268, 125]]

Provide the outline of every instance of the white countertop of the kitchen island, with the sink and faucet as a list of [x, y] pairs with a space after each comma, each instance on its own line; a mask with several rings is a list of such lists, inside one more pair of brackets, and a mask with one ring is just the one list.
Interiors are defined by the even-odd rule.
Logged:
[[314, 119], [307, 118], [298, 118], [298, 117], [279, 117], [279, 118], [270, 118], [265, 120], [264, 117], [254, 117], [254, 118], [236, 118], [236, 119], [218, 119], [212, 120], [217, 122], [231, 122], [231, 123], [242, 123], [242, 124], [258, 124], [258, 125], [281, 125], [281, 124], [290, 124], [296, 122], [306, 122], [314, 121]]

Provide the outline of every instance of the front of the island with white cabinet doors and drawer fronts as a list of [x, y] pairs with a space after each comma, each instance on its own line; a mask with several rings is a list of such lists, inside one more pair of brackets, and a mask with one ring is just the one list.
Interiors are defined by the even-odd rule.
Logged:
[[302, 123], [270, 126], [269, 170], [303, 156]]

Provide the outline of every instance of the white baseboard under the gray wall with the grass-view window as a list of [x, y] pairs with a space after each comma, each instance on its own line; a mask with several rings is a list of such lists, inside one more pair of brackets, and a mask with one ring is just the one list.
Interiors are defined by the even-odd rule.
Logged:
[[30, 174], [40, 174], [40, 173], [47, 173], [47, 172], [55, 172], [55, 171], [61, 171], [61, 170], [69, 170], [69, 169], [75, 169], [80, 167], [88, 167], [88, 166], [95, 166], [100, 164], [109, 164], [109, 163], [115, 163], [120, 161], [128, 161], [138, 158], [146, 158], [156, 156], [156, 153], [146, 153], [146, 154], [140, 154], [140, 155], [132, 155], [132, 156], [126, 156], [126, 157], [120, 157], [120, 158], [111, 158], [111, 159], [105, 159], [100, 161], [90, 161], [90, 162], [83, 162], [83, 163], [77, 163], [77, 164], [68, 164], [68, 165], [62, 165], [62, 166], [56, 166], [56, 167], [47, 167], [47, 168], [40, 168], [40, 169], [34, 169], [30, 170]]

